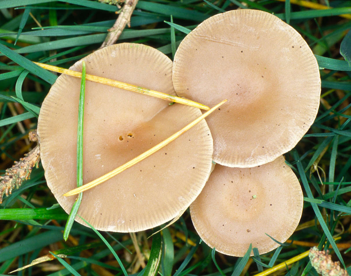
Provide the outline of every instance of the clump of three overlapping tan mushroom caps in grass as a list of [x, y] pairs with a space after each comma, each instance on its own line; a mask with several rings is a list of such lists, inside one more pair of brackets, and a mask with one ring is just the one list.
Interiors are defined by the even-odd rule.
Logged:
[[[191, 205], [200, 237], [220, 252], [243, 256], [250, 243], [260, 253], [278, 246], [265, 233], [279, 242], [292, 234], [302, 213], [302, 191], [281, 155], [311, 126], [320, 92], [316, 59], [292, 27], [274, 15], [247, 9], [205, 20], [176, 52], [174, 89], [171, 60], [148, 46], [118, 44], [84, 60], [92, 75], [171, 95], [176, 95], [175, 89], [179, 96], [209, 106], [223, 98], [230, 104], [207, 119], [214, 141], [202, 121], [128, 171], [84, 192], [80, 216], [99, 230], [118, 232], [167, 222], [203, 189], [211, 172], [214, 142], [214, 161], [227, 167], [214, 169]], [[79, 71], [81, 61], [71, 69]], [[119, 88], [91, 82], [86, 87], [84, 182], [151, 148], [201, 114], [197, 108], [170, 106]], [[74, 202], [63, 194], [75, 184], [77, 114], [72, 110], [78, 91], [78, 79], [60, 76], [42, 105], [38, 124], [48, 186], [66, 212]], [[59, 106], [56, 97], [66, 101]], [[55, 120], [57, 116], [64, 119]], [[288, 208], [292, 201], [295, 209]], [[283, 209], [289, 209], [285, 217], [269, 213]], [[249, 226], [238, 223], [240, 213], [247, 215], [244, 221]], [[267, 218], [271, 224], [288, 222], [289, 227], [284, 231], [262, 227]]]

